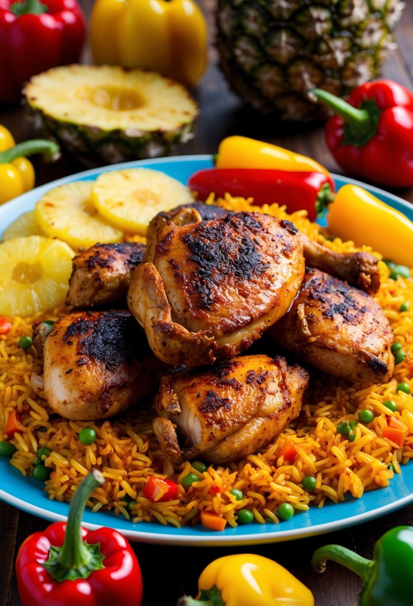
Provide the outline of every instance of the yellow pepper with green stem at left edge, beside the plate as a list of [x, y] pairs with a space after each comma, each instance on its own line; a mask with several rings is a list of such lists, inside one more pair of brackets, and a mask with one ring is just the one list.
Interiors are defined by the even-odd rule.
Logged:
[[25, 156], [33, 153], [57, 155], [58, 145], [44, 139], [31, 139], [16, 145], [12, 133], [0, 124], [0, 204], [35, 186], [35, 169]]

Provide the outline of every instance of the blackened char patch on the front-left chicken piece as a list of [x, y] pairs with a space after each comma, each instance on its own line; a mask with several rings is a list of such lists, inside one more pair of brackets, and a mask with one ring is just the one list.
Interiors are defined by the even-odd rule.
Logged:
[[104, 362], [112, 373], [121, 364], [130, 364], [142, 343], [142, 331], [126, 310], [85, 314], [67, 327], [63, 341], [74, 337], [79, 339], [76, 353], [82, 356], [78, 364], [85, 364], [88, 356]]

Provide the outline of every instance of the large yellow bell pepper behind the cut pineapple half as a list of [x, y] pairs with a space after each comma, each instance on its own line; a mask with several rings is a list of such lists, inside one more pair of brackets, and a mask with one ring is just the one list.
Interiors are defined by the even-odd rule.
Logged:
[[206, 22], [193, 0], [96, 0], [89, 36], [96, 64], [152, 70], [188, 88], [206, 70]]

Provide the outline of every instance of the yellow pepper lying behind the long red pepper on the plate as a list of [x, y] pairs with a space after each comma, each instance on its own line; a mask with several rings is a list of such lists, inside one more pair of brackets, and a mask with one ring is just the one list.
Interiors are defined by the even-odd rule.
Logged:
[[329, 171], [312, 158], [239, 135], [220, 142], [215, 164], [217, 168], [276, 168], [329, 175]]

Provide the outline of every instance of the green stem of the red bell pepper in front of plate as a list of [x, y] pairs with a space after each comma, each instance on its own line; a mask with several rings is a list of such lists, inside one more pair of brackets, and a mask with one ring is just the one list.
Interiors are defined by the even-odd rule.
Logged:
[[104, 568], [99, 545], [82, 541], [81, 524], [87, 499], [94, 489], [104, 484], [104, 476], [96, 469], [79, 484], [70, 504], [62, 547], [51, 547], [50, 557], [44, 562], [55, 581], [87, 579], [94, 570]]

